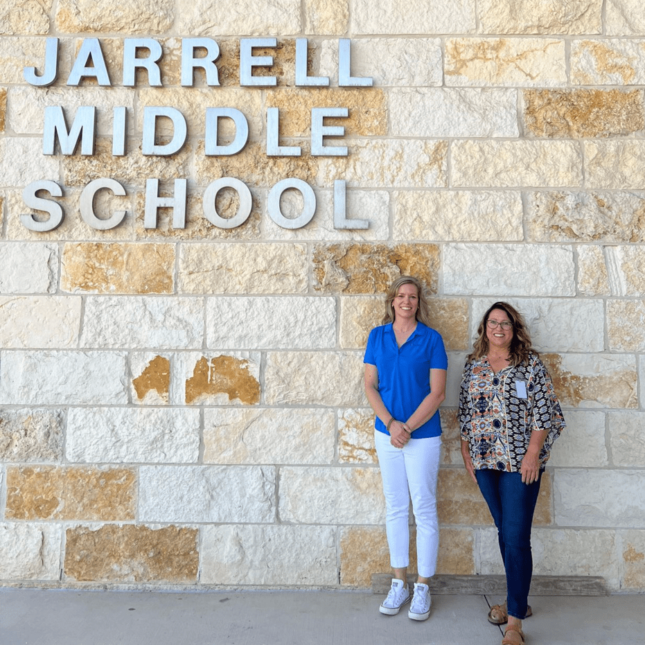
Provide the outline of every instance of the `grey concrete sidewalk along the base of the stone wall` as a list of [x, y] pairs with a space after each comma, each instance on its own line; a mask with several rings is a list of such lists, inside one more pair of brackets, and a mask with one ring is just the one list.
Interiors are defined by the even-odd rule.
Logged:
[[[350, 591], [0, 588], [0, 645], [500, 645], [488, 596], [434, 596], [425, 622]], [[527, 645], [643, 645], [645, 595], [531, 597]]]

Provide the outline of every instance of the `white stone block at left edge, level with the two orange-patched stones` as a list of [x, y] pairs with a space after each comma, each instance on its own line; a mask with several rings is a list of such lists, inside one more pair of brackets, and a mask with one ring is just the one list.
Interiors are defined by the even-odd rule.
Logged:
[[125, 373], [121, 352], [5, 352], [0, 405], [125, 405]]

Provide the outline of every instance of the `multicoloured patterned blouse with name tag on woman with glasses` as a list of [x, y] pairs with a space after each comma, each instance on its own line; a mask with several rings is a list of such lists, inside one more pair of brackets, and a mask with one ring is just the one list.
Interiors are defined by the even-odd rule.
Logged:
[[551, 377], [531, 353], [527, 362], [497, 374], [486, 357], [466, 363], [459, 395], [461, 439], [468, 441], [475, 470], [520, 472], [533, 430], [548, 432], [540, 452], [545, 467], [554, 441], [565, 427]]

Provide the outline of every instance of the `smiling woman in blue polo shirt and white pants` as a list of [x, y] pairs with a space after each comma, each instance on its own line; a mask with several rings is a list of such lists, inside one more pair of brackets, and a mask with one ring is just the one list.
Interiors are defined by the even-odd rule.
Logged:
[[376, 414], [374, 439], [387, 509], [386, 530], [394, 579], [380, 612], [398, 614], [410, 600], [409, 498], [416, 520], [418, 581], [408, 617], [430, 616], [428, 581], [439, 550], [436, 477], [441, 452], [439, 405], [445, 398], [448, 357], [430, 328], [423, 285], [401, 276], [387, 291], [382, 326], [365, 351], [365, 393]]

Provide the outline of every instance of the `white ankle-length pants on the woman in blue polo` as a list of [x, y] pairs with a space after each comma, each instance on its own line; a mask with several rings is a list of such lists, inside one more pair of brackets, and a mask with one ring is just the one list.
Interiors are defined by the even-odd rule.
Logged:
[[439, 551], [436, 477], [441, 437], [410, 439], [403, 448], [394, 448], [388, 434], [375, 430], [374, 443], [385, 493], [390, 565], [393, 569], [409, 565], [409, 500], [412, 497], [418, 574], [430, 578], [434, 576]]

